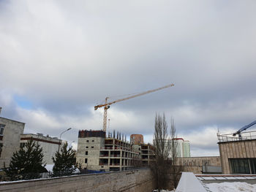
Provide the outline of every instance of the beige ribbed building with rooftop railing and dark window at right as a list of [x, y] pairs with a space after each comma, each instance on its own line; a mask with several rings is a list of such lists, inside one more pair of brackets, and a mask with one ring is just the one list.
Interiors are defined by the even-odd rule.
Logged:
[[217, 134], [223, 174], [256, 174], [256, 131]]

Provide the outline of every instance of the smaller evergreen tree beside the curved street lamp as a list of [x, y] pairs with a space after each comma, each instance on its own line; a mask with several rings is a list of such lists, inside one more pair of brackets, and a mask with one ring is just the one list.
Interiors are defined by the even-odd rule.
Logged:
[[67, 149], [67, 142], [61, 147], [61, 152], [55, 153], [53, 157], [53, 177], [59, 177], [64, 175], [71, 175], [78, 164], [76, 163], [75, 150], [72, 147]]

